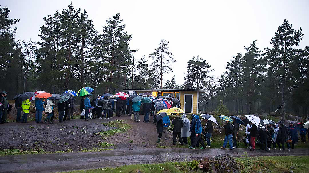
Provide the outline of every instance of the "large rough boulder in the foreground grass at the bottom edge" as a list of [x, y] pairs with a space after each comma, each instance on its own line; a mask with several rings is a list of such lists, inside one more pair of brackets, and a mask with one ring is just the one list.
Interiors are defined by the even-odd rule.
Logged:
[[201, 163], [203, 171], [216, 173], [238, 173], [239, 165], [236, 160], [229, 154], [214, 156], [214, 158], [206, 158]]

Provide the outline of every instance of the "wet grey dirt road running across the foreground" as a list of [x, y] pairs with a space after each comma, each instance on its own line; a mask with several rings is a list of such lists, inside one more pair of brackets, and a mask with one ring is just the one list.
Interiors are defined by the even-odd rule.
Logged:
[[255, 151], [245, 149], [233, 151], [221, 149], [190, 150], [185, 148], [115, 149], [101, 152], [71, 152], [44, 155], [6, 155], [0, 157], [0, 172], [58, 172], [115, 167], [127, 164], [150, 164], [203, 159], [219, 154], [241, 157], [262, 155], [309, 155], [307, 148], [288, 151]]

